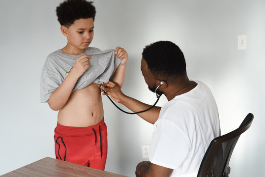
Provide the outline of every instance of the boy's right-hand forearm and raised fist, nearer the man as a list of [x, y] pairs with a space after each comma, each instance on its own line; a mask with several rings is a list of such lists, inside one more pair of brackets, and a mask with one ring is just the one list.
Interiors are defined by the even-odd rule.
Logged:
[[118, 83], [119, 87], [122, 87], [125, 76], [125, 68], [126, 68], [126, 61], [128, 59], [128, 54], [121, 47], [116, 48], [115, 54], [119, 59], [122, 59], [122, 61], [120, 62], [118, 68], [115, 71], [115, 74], [113, 76], [113, 81]]

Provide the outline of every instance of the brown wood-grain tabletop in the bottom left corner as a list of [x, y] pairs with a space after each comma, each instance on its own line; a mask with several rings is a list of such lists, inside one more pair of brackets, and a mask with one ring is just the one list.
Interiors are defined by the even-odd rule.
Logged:
[[1, 177], [125, 177], [70, 162], [45, 157]]

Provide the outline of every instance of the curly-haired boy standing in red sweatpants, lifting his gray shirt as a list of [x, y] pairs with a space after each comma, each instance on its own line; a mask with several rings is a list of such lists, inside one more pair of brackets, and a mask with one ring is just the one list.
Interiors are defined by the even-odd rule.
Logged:
[[67, 44], [47, 57], [41, 72], [41, 102], [59, 110], [56, 158], [104, 170], [107, 127], [98, 84], [111, 79], [122, 86], [128, 55], [120, 47], [88, 47], [96, 13], [92, 2], [66, 0], [56, 12]]

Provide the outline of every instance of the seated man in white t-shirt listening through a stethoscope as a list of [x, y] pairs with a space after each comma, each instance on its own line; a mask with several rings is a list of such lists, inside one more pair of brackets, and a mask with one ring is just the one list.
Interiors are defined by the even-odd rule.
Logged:
[[[170, 41], [145, 47], [141, 70], [148, 88], [163, 93], [169, 102], [138, 114], [154, 124], [149, 160], [138, 164], [137, 177], [196, 177], [211, 140], [220, 136], [218, 109], [210, 89], [188, 79], [184, 55]], [[118, 84], [101, 89], [133, 112], [150, 105], [124, 95]]]

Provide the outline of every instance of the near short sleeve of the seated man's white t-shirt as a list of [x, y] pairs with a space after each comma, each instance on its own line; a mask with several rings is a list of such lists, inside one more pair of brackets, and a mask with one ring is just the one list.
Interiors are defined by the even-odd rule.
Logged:
[[188, 136], [176, 124], [168, 120], [159, 120], [154, 126], [149, 160], [156, 165], [178, 169], [191, 149]]

